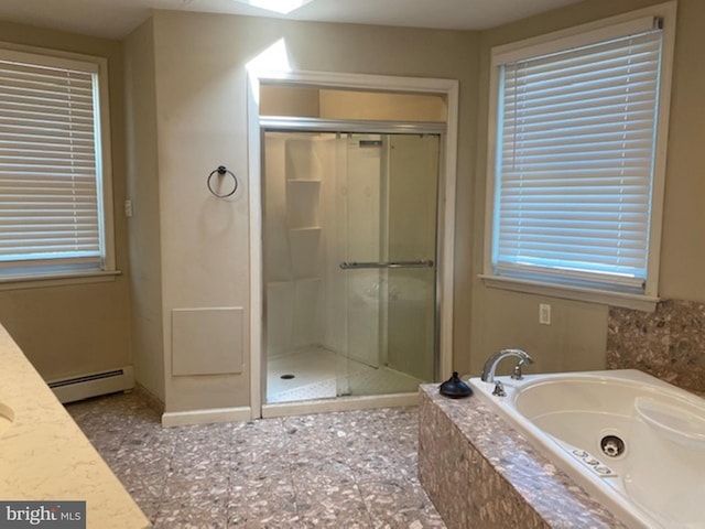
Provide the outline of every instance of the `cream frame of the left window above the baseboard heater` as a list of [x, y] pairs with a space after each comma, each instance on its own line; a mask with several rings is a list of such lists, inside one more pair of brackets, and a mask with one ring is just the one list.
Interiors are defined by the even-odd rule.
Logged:
[[102, 249], [101, 263], [96, 268], [79, 267], [67, 268], [52, 266], [51, 259], [46, 267], [28, 267], [21, 264], [17, 268], [7, 267], [0, 270], [0, 291], [26, 289], [36, 287], [50, 287], [59, 284], [78, 284], [100, 281], [111, 281], [121, 272], [116, 268], [115, 250], [115, 204], [112, 194], [112, 150], [111, 150], [111, 123], [108, 60], [106, 57], [63, 52], [36, 46], [28, 46], [9, 42], [0, 42], [0, 50], [7, 54], [35, 57], [36, 64], [54, 63], [55, 65], [83, 64], [95, 71], [97, 86], [94, 86], [94, 100], [97, 102], [97, 119], [99, 127], [96, 130], [98, 144], [96, 153], [96, 186], [100, 201], [98, 223], [101, 233], [100, 246]]

